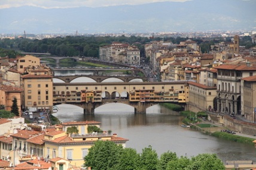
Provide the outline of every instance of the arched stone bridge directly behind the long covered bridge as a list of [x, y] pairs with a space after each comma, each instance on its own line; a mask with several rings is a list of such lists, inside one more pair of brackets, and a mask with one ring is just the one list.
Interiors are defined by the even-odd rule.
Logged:
[[75, 75], [75, 76], [53, 76], [53, 78], [55, 79], [60, 79], [65, 83], [69, 83], [71, 81], [73, 81], [74, 79], [77, 78], [91, 78], [93, 79], [95, 82], [102, 82], [105, 79], [109, 79], [109, 78], [117, 78], [120, 79], [123, 82], [130, 82], [133, 79], [142, 79], [142, 81], [147, 81], [148, 78], [147, 77], [141, 77], [141, 76], [90, 76], [90, 75]]

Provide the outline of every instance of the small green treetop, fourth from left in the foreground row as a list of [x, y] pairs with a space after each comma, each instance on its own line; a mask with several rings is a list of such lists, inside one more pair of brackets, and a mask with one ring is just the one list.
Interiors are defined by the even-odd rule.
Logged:
[[170, 162], [170, 160], [173, 160], [173, 161], [178, 160], [176, 153], [172, 153], [168, 151], [161, 154], [160, 160], [157, 163], [157, 170], [165, 170], [167, 167], [167, 163]]

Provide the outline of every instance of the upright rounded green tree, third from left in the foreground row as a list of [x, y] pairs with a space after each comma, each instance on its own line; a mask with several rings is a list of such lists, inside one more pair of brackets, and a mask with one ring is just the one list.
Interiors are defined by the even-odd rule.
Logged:
[[142, 149], [141, 153], [141, 167], [145, 170], [156, 170], [159, 159], [156, 150], [151, 146]]

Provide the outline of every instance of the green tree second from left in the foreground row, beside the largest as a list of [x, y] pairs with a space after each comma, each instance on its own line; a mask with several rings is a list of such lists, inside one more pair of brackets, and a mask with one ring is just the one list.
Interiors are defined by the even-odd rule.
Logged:
[[115, 165], [116, 170], [135, 170], [141, 169], [141, 164], [139, 162], [139, 154], [135, 149], [124, 148], [118, 157], [118, 163]]

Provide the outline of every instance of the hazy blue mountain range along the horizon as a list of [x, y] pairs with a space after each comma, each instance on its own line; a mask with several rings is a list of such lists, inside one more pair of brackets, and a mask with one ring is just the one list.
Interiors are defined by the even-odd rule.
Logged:
[[117, 33], [255, 30], [256, 1], [194, 0], [143, 5], [0, 10], [0, 33]]

